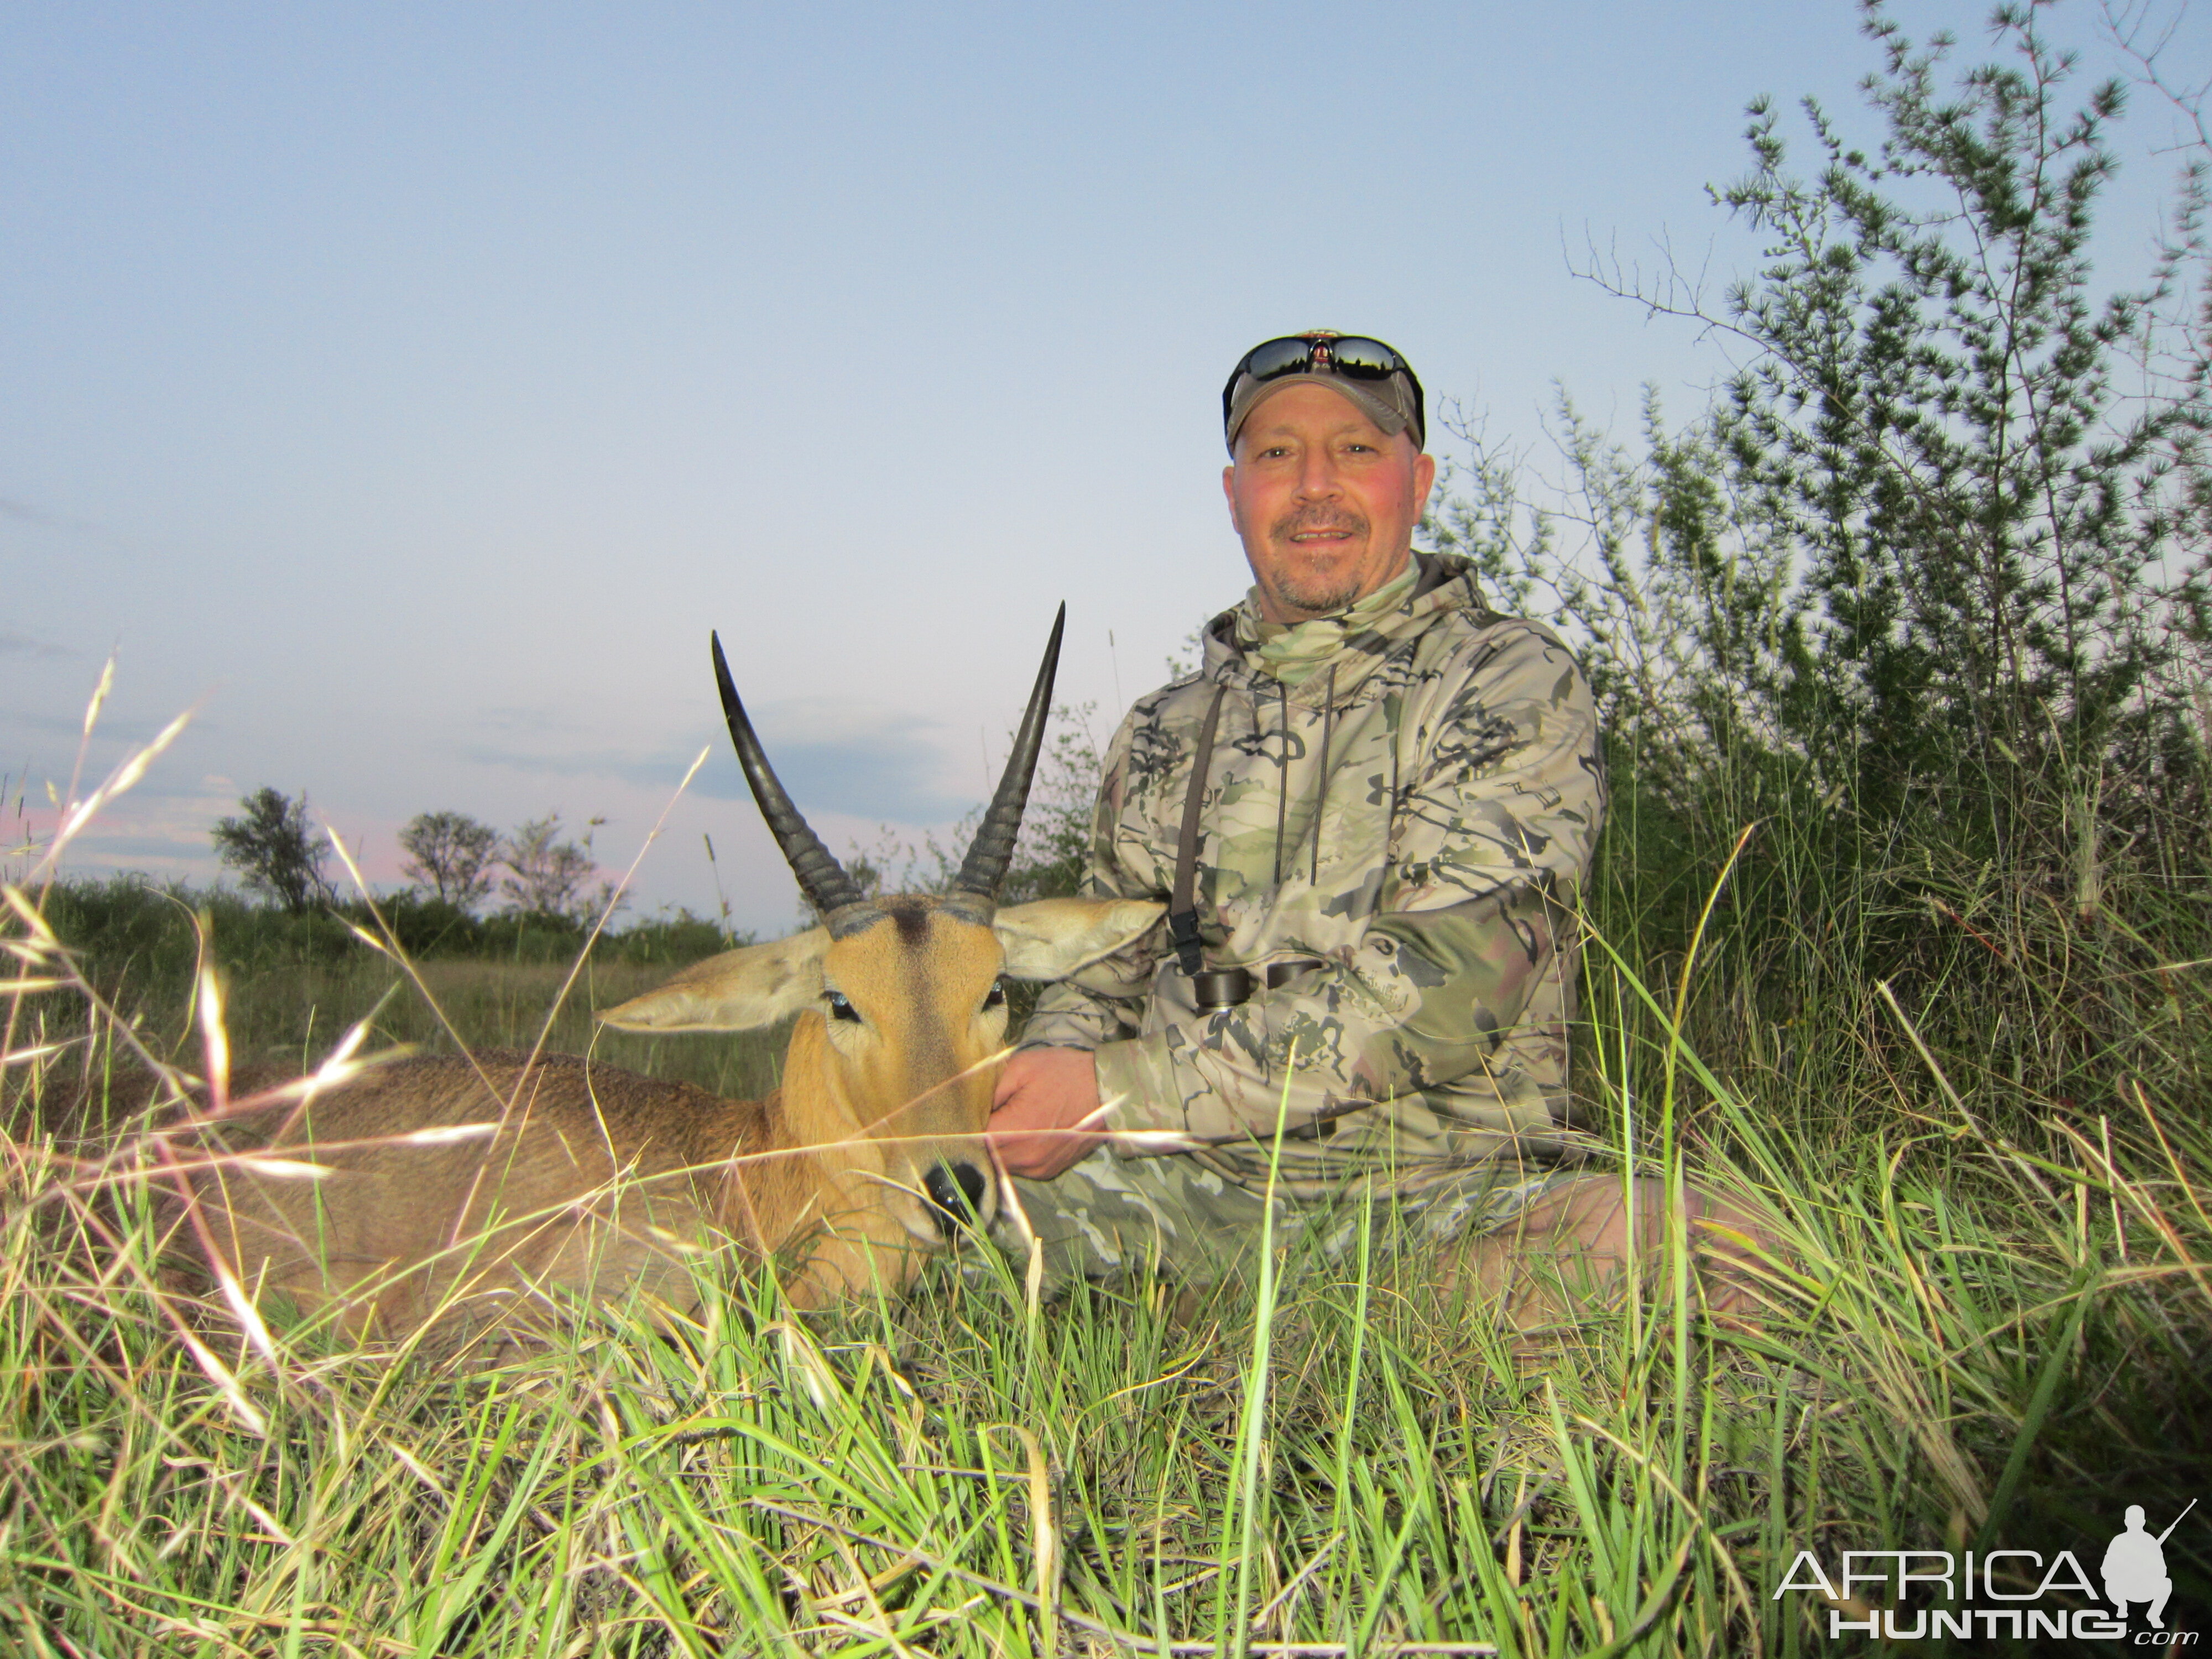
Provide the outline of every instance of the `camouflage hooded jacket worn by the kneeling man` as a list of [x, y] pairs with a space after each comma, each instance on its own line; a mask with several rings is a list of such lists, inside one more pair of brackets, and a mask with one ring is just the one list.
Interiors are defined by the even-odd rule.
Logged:
[[[1566, 1121], [1573, 902], [1606, 792], [1590, 688], [1557, 635], [1491, 613], [1464, 560], [1416, 555], [1391, 613], [1296, 686], [1256, 666], [1248, 597], [1206, 661], [1137, 701], [1106, 754], [1088, 887], [1168, 898], [1199, 728], [1201, 1011], [1166, 927], [1051, 987], [1022, 1046], [1093, 1048], [1113, 1128], [1181, 1130], [1241, 1186], [1418, 1192], [1555, 1155]], [[1241, 624], [1241, 626], [1239, 626]], [[1267, 967], [1294, 967], [1267, 989]]]

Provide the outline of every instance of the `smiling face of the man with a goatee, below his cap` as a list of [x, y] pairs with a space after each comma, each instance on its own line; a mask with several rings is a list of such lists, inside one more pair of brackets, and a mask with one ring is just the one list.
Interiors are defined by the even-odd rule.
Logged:
[[1221, 473], [1267, 622], [1307, 622], [1405, 571], [1436, 460], [1325, 385], [1259, 405]]

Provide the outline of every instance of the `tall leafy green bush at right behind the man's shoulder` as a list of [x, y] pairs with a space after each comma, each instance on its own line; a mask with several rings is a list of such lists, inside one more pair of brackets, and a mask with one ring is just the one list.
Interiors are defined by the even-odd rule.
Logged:
[[[1714, 1053], [1882, 987], [2073, 1097], [2212, 922], [2203, 243], [2106, 294], [2121, 88], [2068, 106], [2033, 9], [1997, 13], [2011, 62], [1949, 88], [1947, 40], [1865, 11], [1880, 148], [1807, 104], [1798, 177], [1754, 104], [1752, 170], [1714, 195], [1763, 268], [1721, 307], [1635, 294], [1743, 347], [1719, 403], [1670, 429], [1648, 398], [1632, 451], [1562, 396], [1551, 484], [1462, 418], [1429, 535], [1588, 661], [1615, 942], [1686, 951], [1690, 872], [1750, 832], [1708, 936]], [[2177, 223], [2199, 210], [2185, 179]]]

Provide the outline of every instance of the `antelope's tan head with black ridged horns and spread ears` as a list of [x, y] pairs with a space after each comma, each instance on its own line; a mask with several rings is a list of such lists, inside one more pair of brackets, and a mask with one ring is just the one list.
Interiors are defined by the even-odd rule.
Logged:
[[900, 1237], [885, 1228], [880, 1243], [933, 1250], [956, 1221], [989, 1223], [998, 1212], [982, 1130], [1006, 1048], [1006, 980], [1066, 978], [1135, 940], [1164, 909], [1113, 898], [998, 907], [1044, 741], [1064, 622], [1066, 606], [960, 874], [945, 894], [894, 898], [865, 896], [792, 805], [717, 637], [730, 741], [823, 925], [697, 962], [602, 1015], [624, 1031], [741, 1031], [799, 1013], [776, 1133], [814, 1148], [816, 1164], [847, 1188], [847, 1206], [896, 1223]]

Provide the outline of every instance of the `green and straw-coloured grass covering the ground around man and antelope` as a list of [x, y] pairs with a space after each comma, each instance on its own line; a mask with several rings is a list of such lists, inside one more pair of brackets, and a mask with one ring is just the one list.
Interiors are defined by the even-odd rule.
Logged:
[[[1798, 1241], [1756, 1329], [1705, 1318], [1679, 1259], [1509, 1338], [1418, 1259], [1270, 1252], [1192, 1314], [1150, 1281], [1035, 1305], [1022, 1263], [971, 1245], [905, 1305], [799, 1321], [714, 1281], [675, 1334], [599, 1310], [471, 1367], [312, 1329], [259, 1354], [164, 1292], [157, 1141], [117, 1124], [71, 1157], [40, 1113], [131, 1037], [197, 1064], [184, 987], [133, 998], [93, 958], [73, 984], [29, 900], [11, 938], [53, 989], [20, 998], [7, 1060], [0, 1648], [1843, 1652], [1865, 1637], [1832, 1639], [1832, 1613], [1893, 1597], [1776, 1597], [1809, 1582], [1801, 1551], [1832, 1575], [1843, 1551], [2035, 1551], [1995, 1571], [2028, 1595], [2059, 1551], [2095, 1575], [2124, 1504], [2157, 1531], [2212, 1493], [2190, 971], [2141, 975], [2130, 1053], [2154, 1066], [2086, 1055], [2095, 1099], [2022, 1102], [2002, 1022], [1909, 1022], [1880, 987], [1818, 1026], [1739, 1026], [1708, 1066], [1674, 991], [1595, 951], [1584, 1088], [1610, 1135], [1646, 1170], [1739, 1172]], [[586, 969], [551, 1046], [664, 971]], [[372, 1013], [378, 1042], [526, 1046], [568, 971], [418, 973], [358, 949], [234, 975], [228, 1029], [303, 1060]], [[131, 1037], [93, 991], [135, 1009]], [[776, 1064], [768, 1042], [597, 1053], [748, 1091]], [[2170, 1626], [2201, 1619], [2208, 1537], [2168, 1540]]]

